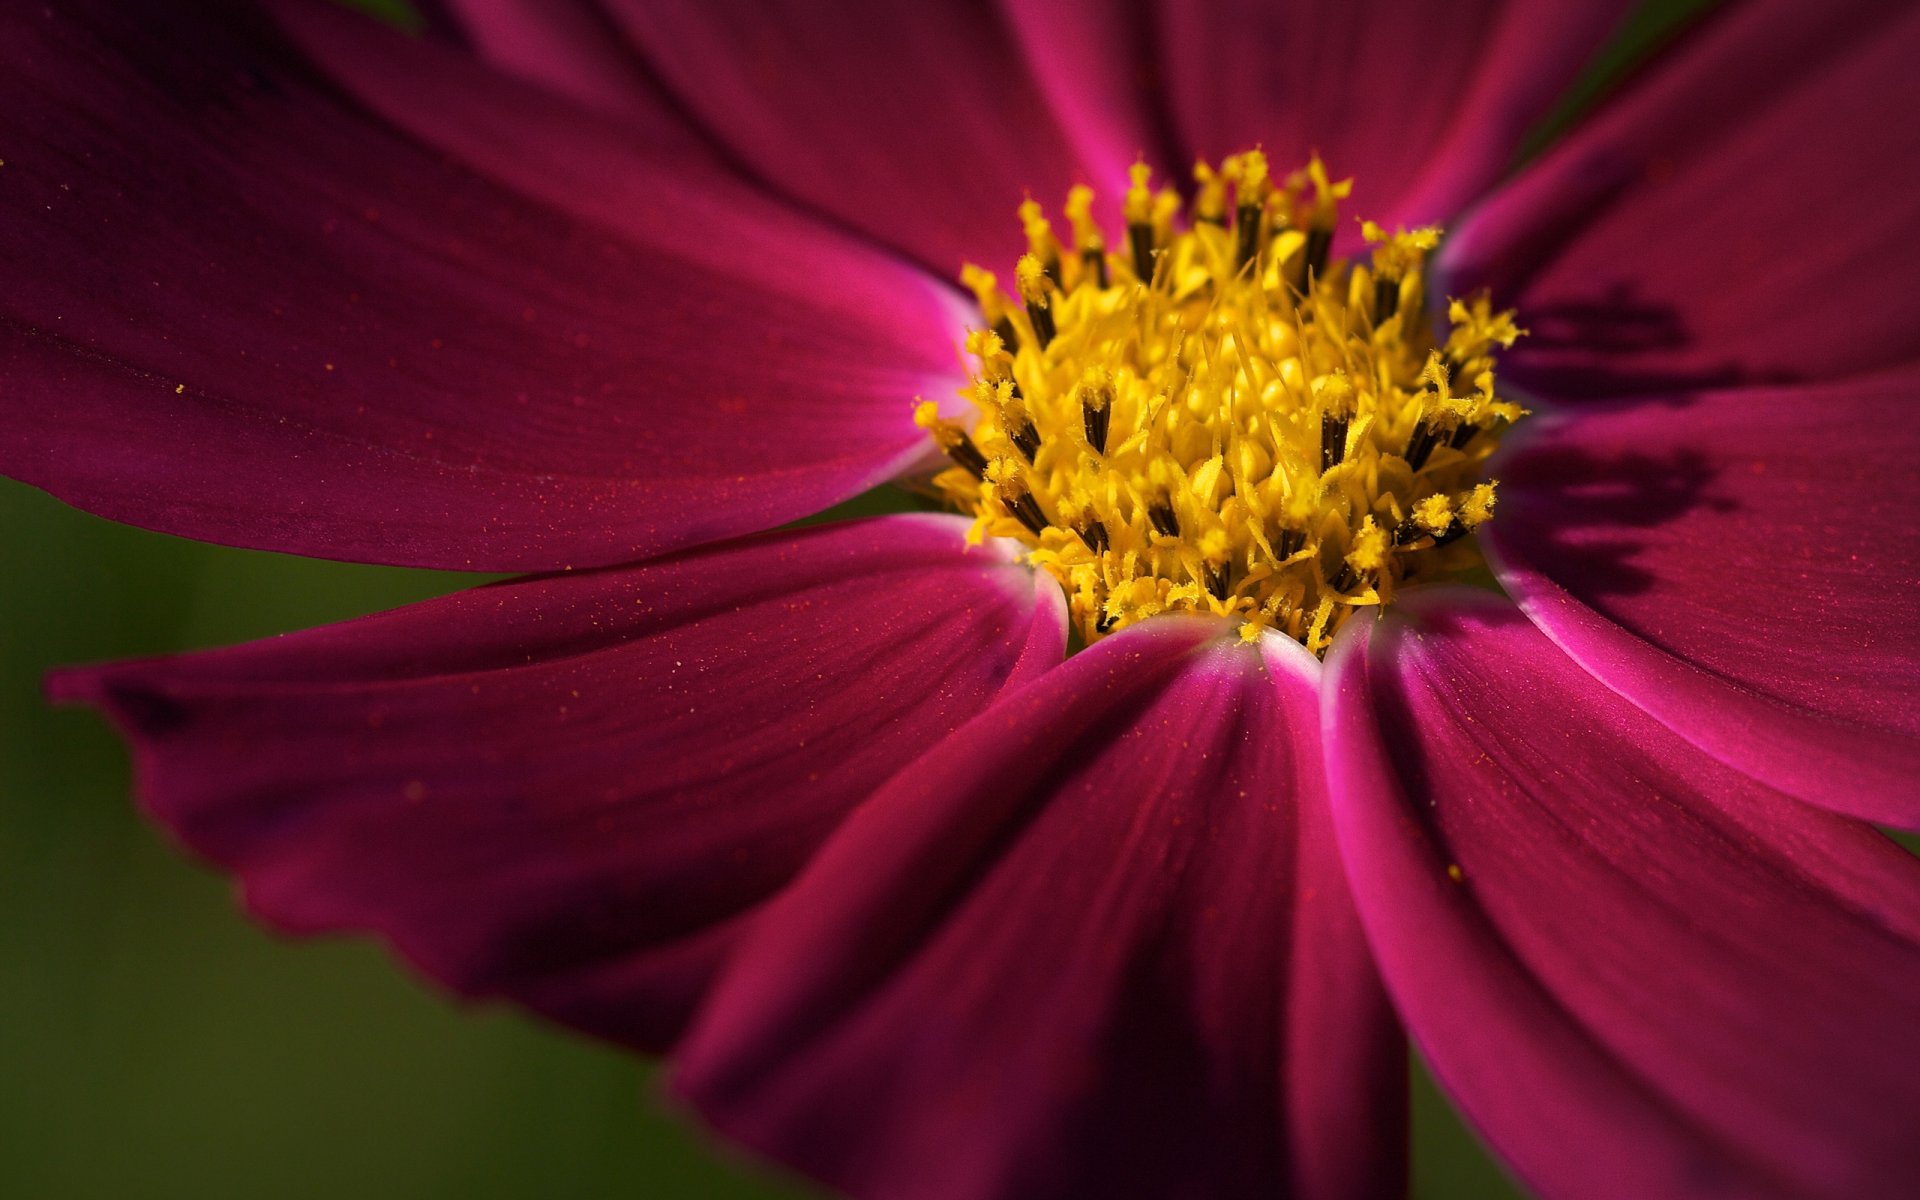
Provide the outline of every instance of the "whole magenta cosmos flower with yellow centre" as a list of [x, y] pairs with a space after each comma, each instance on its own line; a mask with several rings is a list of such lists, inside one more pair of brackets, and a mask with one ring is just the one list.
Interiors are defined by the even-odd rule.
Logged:
[[1920, 13], [1503, 182], [1620, 6], [453, 8], [0, 15], [0, 468], [543, 572], [56, 680], [255, 914], [858, 1196], [1388, 1194], [1402, 1023], [1548, 1196], [1910, 1188]]

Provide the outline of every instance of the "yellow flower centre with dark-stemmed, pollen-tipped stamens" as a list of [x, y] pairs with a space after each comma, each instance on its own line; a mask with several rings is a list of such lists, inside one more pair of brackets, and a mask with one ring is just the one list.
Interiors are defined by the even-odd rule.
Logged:
[[1421, 276], [1440, 230], [1367, 223], [1371, 265], [1332, 259], [1352, 180], [1317, 157], [1283, 182], [1258, 150], [1198, 165], [1185, 228], [1148, 179], [1135, 165], [1127, 253], [1073, 188], [1071, 252], [1020, 209], [1018, 303], [962, 275], [989, 326], [968, 336], [977, 417], [916, 420], [972, 536], [1025, 543], [1087, 641], [1187, 611], [1325, 653], [1357, 607], [1478, 566], [1480, 467], [1524, 415], [1494, 394], [1513, 313], [1455, 300], [1436, 344]]

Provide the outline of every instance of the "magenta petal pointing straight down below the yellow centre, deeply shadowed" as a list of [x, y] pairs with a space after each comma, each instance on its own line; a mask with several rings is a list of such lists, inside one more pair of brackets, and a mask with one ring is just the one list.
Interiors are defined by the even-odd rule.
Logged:
[[1317, 674], [1158, 618], [1010, 693], [766, 910], [678, 1089], [860, 1198], [1396, 1194]]

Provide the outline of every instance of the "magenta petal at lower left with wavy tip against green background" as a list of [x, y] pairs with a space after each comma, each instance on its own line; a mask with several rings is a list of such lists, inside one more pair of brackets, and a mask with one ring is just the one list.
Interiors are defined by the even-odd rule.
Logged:
[[964, 534], [770, 534], [54, 693], [113, 716], [148, 810], [275, 927], [659, 1048], [849, 808], [1060, 660], [1058, 588]]

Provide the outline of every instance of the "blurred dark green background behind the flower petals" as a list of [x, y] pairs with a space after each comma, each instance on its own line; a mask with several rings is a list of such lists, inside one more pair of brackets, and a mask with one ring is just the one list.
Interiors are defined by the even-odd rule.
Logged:
[[[1644, 10], [1551, 125], [1697, 8]], [[60, 664], [467, 582], [196, 545], [0, 484], [0, 1196], [804, 1194], [674, 1116], [651, 1064], [455, 1006], [372, 945], [250, 925], [136, 818], [119, 739], [40, 697]], [[1413, 1096], [1415, 1196], [1519, 1194], [1419, 1073]]]

